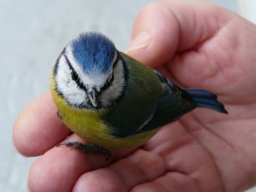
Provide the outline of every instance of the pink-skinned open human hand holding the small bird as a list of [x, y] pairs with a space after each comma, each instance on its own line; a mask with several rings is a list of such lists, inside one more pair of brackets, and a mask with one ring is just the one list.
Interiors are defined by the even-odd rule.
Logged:
[[[203, 2], [158, 2], [135, 19], [134, 38], [150, 42], [129, 55], [183, 87], [211, 91], [229, 111], [195, 109], [145, 145], [84, 154], [59, 142], [81, 141], [56, 115], [50, 92], [32, 101], [13, 128], [14, 145], [38, 156], [30, 191], [242, 191], [256, 183], [256, 26]], [[145, 32], [144, 32], [145, 34]]]

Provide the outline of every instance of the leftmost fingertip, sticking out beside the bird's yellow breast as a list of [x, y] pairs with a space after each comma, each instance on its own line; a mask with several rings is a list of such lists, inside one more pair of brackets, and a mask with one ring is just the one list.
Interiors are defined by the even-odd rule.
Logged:
[[50, 92], [32, 101], [13, 126], [13, 141], [25, 156], [38, 156], [65, 139], [70, 130], [57, 116]]

